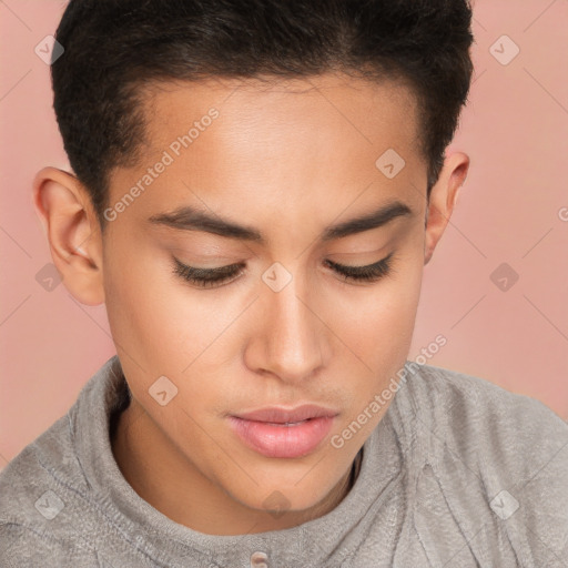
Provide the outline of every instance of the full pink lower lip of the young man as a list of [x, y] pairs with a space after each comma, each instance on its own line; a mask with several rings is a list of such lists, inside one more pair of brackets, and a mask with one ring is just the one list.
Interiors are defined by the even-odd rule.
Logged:
[[266, 457], [301, 457], [314, 452], [327, 436], [333, 417], [312, 418], [290, 426], [229, 417], [233, 432]]

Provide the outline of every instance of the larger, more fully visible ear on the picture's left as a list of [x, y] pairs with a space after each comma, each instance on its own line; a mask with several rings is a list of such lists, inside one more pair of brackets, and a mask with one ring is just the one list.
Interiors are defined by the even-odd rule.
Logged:
[[33, 180], [33, 205], [65, 287], [82, 304], [102, 304], [101, 231], [83, 185], [68, 172], [43, 168]]

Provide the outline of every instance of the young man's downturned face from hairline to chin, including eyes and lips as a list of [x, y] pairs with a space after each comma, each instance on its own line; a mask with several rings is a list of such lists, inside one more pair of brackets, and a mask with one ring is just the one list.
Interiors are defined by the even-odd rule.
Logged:
[[[210, 503], [316, 507], [388, 407], [368, 412], [408, 356], [443, 231], [435, 214], [425, 231], [415, 101], [322, 75], [162, 85], [145, 110], [99, 266], [131, 433]], [[285, 414], [303, 405], [318, 409]]]

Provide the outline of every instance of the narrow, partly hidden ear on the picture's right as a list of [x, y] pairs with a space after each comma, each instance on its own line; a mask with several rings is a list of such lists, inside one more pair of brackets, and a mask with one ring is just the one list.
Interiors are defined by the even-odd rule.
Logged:
[[428, 264], [454, 211], [459, 189], [469, 169], [469, 158], [463, 152], [446, 156], [438, 181], [433, 185], [426, 210], [424, 264]]

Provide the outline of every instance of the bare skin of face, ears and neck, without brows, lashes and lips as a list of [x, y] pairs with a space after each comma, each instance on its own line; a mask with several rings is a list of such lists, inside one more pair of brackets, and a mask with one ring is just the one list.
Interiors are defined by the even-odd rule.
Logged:
[[[133, 393], [112, 444], [125, 479], [176, 523], [239, 535], [296, 526], [345, 497], [353, 460], [388, 404], [343, 447], [329, 440], [408, 357], [424, 265], [469, 159], [446, 155], [427, 202], [416, 102], [390, 81], [324, 74], [271, 85], [176, 83], [148, 99], [149, 143], [138, 166], [112, 172], [111, 203], [212, 106], [220, 116], [104, 235], [71, 173], [45, 168], [33, 191], [67, 288], [82, 304], [106, 305]], [[389, 148], [406, 162], [392, 180], [375, 166]], [[413, 214], [321, 241], [324, 227], [395, 200]], [[266, 243], [148, 222], [180, 205], [254, 227]], [[374, 283], [345, 282], [324, 264], [363, 266], [392, 252], [392, 272]], [[201, 267], [244, 262], [247, 271], [200, 288], [172, 272], [172, 255]], [[280, 292], [262, 280], [275, 262], [292, 275]], [[149, 394], [162, 375], [179, 389], [165, 406]], [[227, 425], [227, 413], [301, 403], [339, 413], [303, 457], [265, 457]], [[283, 515], [264, 504], [276, 490], [287, 499]]]

